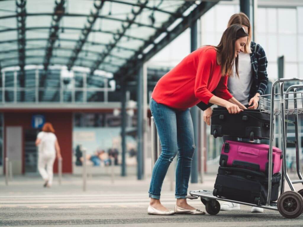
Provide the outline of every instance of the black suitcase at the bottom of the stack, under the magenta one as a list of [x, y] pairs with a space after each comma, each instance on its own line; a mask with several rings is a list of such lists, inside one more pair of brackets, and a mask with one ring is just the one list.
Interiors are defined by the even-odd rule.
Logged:
[[[279, 194], [281, 173], [272, 176], [271, 201]], [[213, 191], [214, 196], [256, 205], [265, 204], [268, 192], [268, 176], [249, 169], [219, 167]]]

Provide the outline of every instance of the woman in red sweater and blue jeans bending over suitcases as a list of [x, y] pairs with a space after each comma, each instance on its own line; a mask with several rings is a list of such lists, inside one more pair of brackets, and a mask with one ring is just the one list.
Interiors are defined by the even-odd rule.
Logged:
[[[227, 79], [238, 53], [244, 51], [248, 34], [241, 25], [231, 25], [218, 46], [204, 46], [185, 57], [165, 74], [151, 94], [150, 109], [161, 141], [161, 155], [155, 163], [149, 189], [148, 214], [205, 214], [186, 202], [191, 160], [195, 150], [194, 130], [189, 108], [204, 102], [226, 107], [229, 113], [246, 109], [227, 89]], [[160, 202], [160, 193], [168, 166], [178, 152], [175, 210]]]

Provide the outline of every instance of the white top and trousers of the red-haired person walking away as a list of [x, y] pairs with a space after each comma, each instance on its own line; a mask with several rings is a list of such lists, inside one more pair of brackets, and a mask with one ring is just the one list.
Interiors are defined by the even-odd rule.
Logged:
[[57, 137], [51, 132], [39, 132], [37, 138], [41, 140], [38, 146], [38, 170], [42, 178], [45, 181], [48, 180], [48, 185], [51, 186], [53, 181], [53, 165], [56, 158], [55, 142]]

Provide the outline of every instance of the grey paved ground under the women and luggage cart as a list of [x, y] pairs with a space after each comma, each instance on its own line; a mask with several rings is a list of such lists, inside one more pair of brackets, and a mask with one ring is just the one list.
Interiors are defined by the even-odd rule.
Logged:
[[[215, 175], [206, 175], [203, 184], [190, 184], [189, 190], [211, 189]], [[219, 212], [217, 215], [147, 215], [149, 180], [137, 181], [135, 176], [88, 179], [87, 192], [82, 192], [79, 177], [64, 176], [62, 185], [57, 179], [52, 188], [42, 187], [39, 177], [14, 177], [5, 186], [0, 177], [1, 226], [303, 226], [303, 215], [285, 219], [278, 212], [265, 210], [251, 213], [250, 207], [240, 211]], [[298, 186], [298, 189], [302, 186]], [[162, 203], [173, 209], [174, 193], [165, 180]], [[190, 204], [205, 210], [199, 200]]]

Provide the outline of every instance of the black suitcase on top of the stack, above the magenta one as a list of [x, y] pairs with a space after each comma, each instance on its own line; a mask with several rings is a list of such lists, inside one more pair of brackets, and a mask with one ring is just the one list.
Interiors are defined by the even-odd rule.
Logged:
[[211, 115], [211, 135], [241, 138], [269, 139], [270, 115], [260, 110], [243, 110], [230, 114], [222, 107], [214, 108]]

